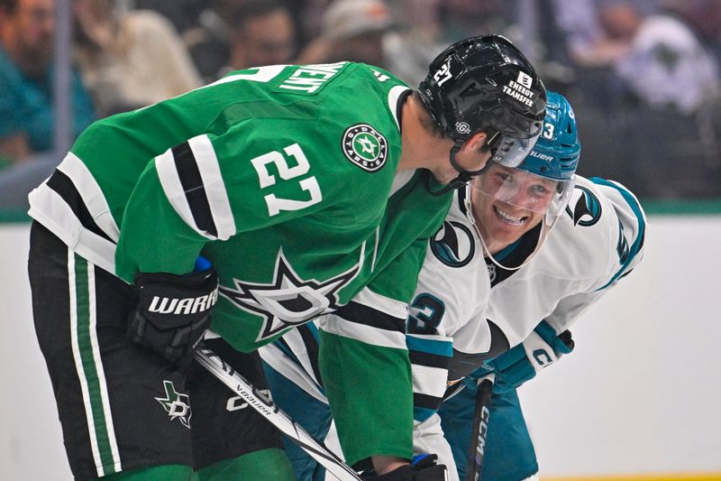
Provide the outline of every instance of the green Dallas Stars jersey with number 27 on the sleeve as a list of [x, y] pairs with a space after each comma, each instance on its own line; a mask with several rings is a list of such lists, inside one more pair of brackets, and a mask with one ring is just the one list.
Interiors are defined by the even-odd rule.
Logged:
[[[232, 72], [91, 125], [30, 215], [126, 282], [204, 255], [220, 279], [212, 328], [240, 350], [325, 315], [347, 458], [408, 457], [405, 303], [451, 196], [428, 193], [427, 171], [397, 174], [407, 92], [349, 62]], [[369, 392], [397, 412], [374, 412]]]

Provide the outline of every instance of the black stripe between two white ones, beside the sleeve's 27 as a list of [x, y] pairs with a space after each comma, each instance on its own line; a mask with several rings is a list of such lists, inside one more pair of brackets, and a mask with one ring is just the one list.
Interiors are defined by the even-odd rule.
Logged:
[[187, 142], [176, 145], [171, 149], [175, 168], [178, 171], [178, 179], [183, 191], [186, 194], [187, 205], [198, 230], [205, 231], [211, 236], [217, 237], [218, 230], [215, 227], [213, 213], [210, 210], [210, 202], [205, 194], [203, 178], [197, 166], [196, 156], [193, 154], [190, 144]]

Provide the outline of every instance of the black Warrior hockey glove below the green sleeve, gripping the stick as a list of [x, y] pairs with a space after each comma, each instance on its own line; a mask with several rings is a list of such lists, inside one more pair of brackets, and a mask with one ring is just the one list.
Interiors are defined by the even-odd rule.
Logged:
[[185, 275], [141, 273], [135, 286], [140, 301], [130, 317], [128, 338], [171, 364], [188, 365], [218, 299], [214, 269]]

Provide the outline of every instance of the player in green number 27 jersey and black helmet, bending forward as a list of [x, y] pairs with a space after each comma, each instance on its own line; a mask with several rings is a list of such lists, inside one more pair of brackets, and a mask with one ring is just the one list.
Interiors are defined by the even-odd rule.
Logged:
[[346, 459], [442, 479], [408, 465], [406, 302], [452, 189], [521, 162], [544, 106], [488, 35], [417, 92], [365, 64], [269, 66], [91, 125], [30, 196], [33, 315], [76, 478], [290, 478], [277, 432], [193, 350], [205, 335], [261, 388], [257, 347], [329, 314]]

